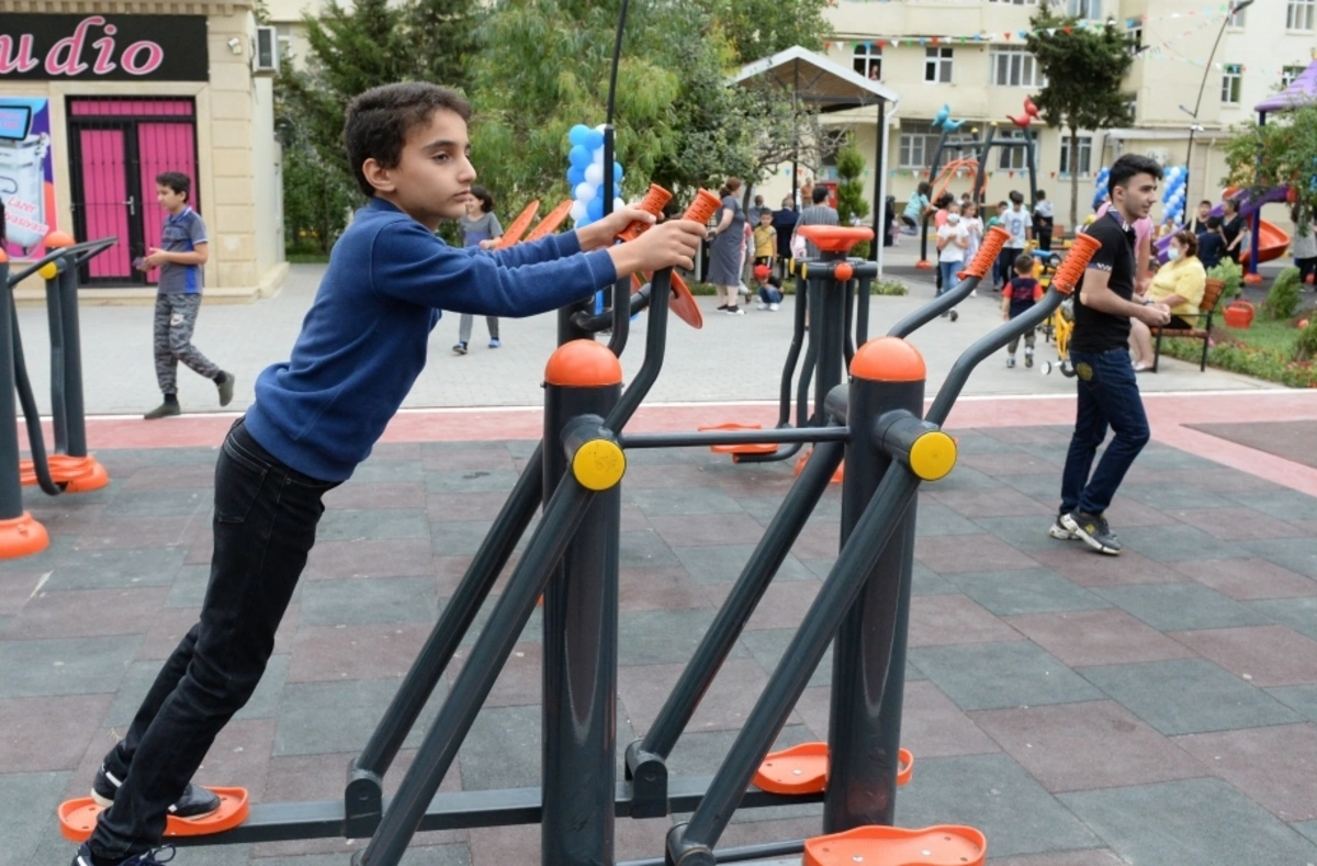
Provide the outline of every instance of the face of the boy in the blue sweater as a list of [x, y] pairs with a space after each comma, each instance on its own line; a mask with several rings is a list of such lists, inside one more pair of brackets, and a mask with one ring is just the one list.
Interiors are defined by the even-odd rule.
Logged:
[[469, 151], [466, 121], [440, 108], [407, 134], [396, 166], [385, 168], [371, 158], [362, 171], [377, 196], [435, 230], [444, 220], [468, 213], [470, 205], [473, 215], [479, 213], [479, 200], [471, 196], [475, 168]]

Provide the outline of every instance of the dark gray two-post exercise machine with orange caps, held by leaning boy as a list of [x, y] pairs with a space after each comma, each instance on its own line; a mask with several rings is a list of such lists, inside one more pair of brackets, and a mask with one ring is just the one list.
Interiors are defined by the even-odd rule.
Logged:
[[[718, 207], [716, 197], [707, 193], [699, 204], [701, 209], [687, 216], [703, 221]], [[846, 251], [857, 240], [871, 238], [871, 230], [824, 226], [803, 230], [823, 254], [802, 265], [802, 276], [818, 283], [824, 295], [844, 297], [855, 278], [855, 265]], [[1054, 278], [1052, 290], [1030, 313], [1001, 325], [960, 357], [923, 419], [926, 371], [919, 353], [905, 337], [976, 288], [992, 265], [992, 246], [1000, 247], [1004, 234], [992, 233], [993, 243], [980, 250], [956, 287], [897, 322], [889, 336], [855, 350], [849, 383], [838, 383], [823, 395], [823, 424], [774, 430], [766, 437], [763, 432], [740, 430], [626, 432], [662, 366], [672, 299], [669, 271], [655, 274], [648, 288], [635, 295], [628, 295], [626, 286], [612, 292], [610, 313], [615, 328], [637, 307], [652, 308], [644, 363], [626, 390], [618, 361], [624, 341], [606, 347], [593, 338], [607, 320], [589, 313], [589, 299], [585, 309], [578, 304], [560, 311], [562, 338], [545, 367], [545, 434], [540, 447], [365, 750], [348, 767], [342, 798], [250, 804], [230, 829], [171, 841], [238, 844], [369, 837], [369, 846], [356, 855], [354, 863], [395, 866], [417, 830], [539, 823], [543, 863], [585, 866], [614, 862], [616, 817], [691, 812], [689, 823], [668, 834], [662, 859], [639, 863], [712, 866], [802, 852], [806, 862], [819, 866], [982, 863], [986, 840], [972, 828], [890, 827], [896, 787], [913, 770], [913, 758], [900, 750], [913, 504], [919, 483], [946, 476], [955, 463], [955, 442], [942, 424], [973, 369], [1056, 309], [1062, 292], [1077, 283], [1093, 242], [1088, 238], [1077, 242]], [[614, 342], [616, 337], [614, 330]], [[777, 444], [813, 442], [815, 450], [655, 724], [627, 749], [627, 778], [618, 780], [614, 778], [618, 555], [627, 451], [764, 438]], [[847, 466], [843, 544], [836, 565], [802, 617], [726, 762], [711, 778], [672, 777], [666, 761], [673, 746], [843, 461]], [[487, 624], [466, 654], [396, 794], [386, 800], [385, 774], [541, 504], [543, 517]], [[541, 787], [439, 792], [541, 595]], [[815, 744], [806, 754], [801, 750], [770, 754], [774, 738], [834, 641], [828, 742]], [[245, 804], [241, 790], [224, 794]], [[824, 804], [823, 834], [818, 838], [715, 850], [738, 808], [817, 802]], [[86, 836], [95, 819], [95, 811], [78, 802], [66, 804], [62, 815], [63, 830], [71, 838]]]

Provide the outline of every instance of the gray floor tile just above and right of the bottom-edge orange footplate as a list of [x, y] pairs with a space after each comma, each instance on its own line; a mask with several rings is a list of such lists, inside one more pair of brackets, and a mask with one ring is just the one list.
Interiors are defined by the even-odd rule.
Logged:
[[[1010, 757], [915, 757], [897, 798], [897, 824], [967, 824], [988, 837], [990, 857], [1097, 848], [1098, 840]], [[1159, 865], [1162, 866], [1162, 865]]]

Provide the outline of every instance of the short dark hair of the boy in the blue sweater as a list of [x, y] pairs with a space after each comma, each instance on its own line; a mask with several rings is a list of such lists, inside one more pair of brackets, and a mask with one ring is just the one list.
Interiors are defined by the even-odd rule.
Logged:
[[406, 82], [371, 87], [348, 104], [342, 125], [342, 143], [348, 150], [352, 176], [367, 199], [375, 188], [366, 180], [362, 166], [374, 159], [385, 168], [394, 168], [403, 158], [407, 136], [435, 116], [450, 111], [462, 120], [471, 118], [471, 105], [457, 91], [424, 82]]

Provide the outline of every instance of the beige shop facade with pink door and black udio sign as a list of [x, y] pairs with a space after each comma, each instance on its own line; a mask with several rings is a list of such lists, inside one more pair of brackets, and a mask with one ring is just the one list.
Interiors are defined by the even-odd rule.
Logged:
[[[212, 301], [273, 293], [286, 272], [273, 80], [253, 70], [246, 0], [0, 0], [0, 197], [12, 259], [51, 230], [117, 243], [88, 300], [149, 299], [133, 263], [158, 246], [155, 175], [180, 171], [209, 230]], [[40, 291], [29, 283], [22, 291]]]

